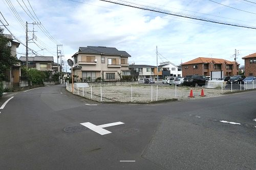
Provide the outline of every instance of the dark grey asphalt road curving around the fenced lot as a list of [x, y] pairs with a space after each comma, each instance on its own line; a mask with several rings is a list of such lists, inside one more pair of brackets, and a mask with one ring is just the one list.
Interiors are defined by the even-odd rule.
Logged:
[[[256, 169], [255, 90], [137, 105], [95, 103], [57, 85], [5, 94], [0, 107], [10, 96], [0, 169]], [[101, 135], [87, 122], [124, 124]]]

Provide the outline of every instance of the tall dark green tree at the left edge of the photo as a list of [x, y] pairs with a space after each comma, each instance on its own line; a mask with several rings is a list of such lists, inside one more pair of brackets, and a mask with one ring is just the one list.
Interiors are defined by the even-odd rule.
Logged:
[[7, 44], [10, 39], [4, 36], [4, 29], [0, 28], [0, 74], [4, 74], [5, 70], [10, 69], [12, 65], [17, 64], [16, 56], [11, 55], [11, 47]]

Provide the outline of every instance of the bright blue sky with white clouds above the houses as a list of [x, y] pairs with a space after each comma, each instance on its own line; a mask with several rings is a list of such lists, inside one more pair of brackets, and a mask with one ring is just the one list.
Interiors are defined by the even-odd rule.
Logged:
[[[207, 20], [256, 28], [256, 1], [244, 0], [113, 0], [143, 5]], [[131, 4], [132, 3], [132, 4]], [[256, 53], [256, 29], [217, 23], [121, 6], [99, 0], [0, 0], [0, 22], [5, 34], [13, 34], [36, 55], [53, 56], [57, 62], [57, 44], [67, 63], [79, 47], [106, 46], [126, 51], [129, 63], [158, 65], [170, 61], [176, 65], [198, 57], [222, 58], [244, 65], [242, 57]], [[221, 5], [222, 4], [222, 5]], [[33, 28], [34, 27], [34, 28]], [[34, 37], [33, 35], [34, 29]], [[10, 33], [11, 32], [11, 33]], [[34, 42], [32, 42], [34, 41]], [[17, 57], [25, 56], [20, 44]], [[29, 51], [29, 56], [35, 54]], [[59, 54], [60, 55], [60, 54]]]

